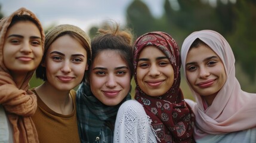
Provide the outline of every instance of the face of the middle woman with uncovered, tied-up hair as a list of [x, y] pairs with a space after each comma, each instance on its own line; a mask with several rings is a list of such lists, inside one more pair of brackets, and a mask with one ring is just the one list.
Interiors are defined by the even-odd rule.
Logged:
[[101, 51], [91, 67], [92, 94], [105, 105], [118, 105], [131, 88], [130, 77], [128, 65], [117, 51]]

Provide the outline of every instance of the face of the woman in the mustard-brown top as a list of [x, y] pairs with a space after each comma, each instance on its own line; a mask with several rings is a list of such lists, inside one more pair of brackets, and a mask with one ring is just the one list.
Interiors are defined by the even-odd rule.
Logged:
[[83, 79], [87, 65], [87, 51], [69, 35], [57, 38], [47, 50], [43, 65], [47, 83], [60, 91], [70, 91]]

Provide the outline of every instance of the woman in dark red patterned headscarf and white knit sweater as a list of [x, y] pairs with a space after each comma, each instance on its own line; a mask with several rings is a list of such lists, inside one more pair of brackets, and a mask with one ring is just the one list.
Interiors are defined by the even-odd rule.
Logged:
[[134, 45], [135, 100], [121, 105], [114, 142], [194, 142], [194, 114], [180, 89], [180, 52], [164, 32]]

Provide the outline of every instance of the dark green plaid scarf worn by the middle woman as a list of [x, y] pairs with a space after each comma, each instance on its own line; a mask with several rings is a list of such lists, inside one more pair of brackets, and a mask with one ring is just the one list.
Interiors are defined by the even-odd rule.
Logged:
[[81, 142], [113, 142], [116, 114], [120, 105], [131, 99], [131, 95], [118, 105], [107, 106], [92, 95], [90, 86], [81, 83], [76, 91], [78, 130]]

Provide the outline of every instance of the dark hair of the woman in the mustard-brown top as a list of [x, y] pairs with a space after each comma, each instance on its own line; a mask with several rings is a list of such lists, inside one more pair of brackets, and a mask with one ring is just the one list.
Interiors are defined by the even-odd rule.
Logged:
[[[56, 36], [56, 38], [50, 43], [49, 46], [51, 46], [51, 44], [58, 38], [60, 38], [61, 36], [64, 36], [64, 35], [69, 35], [70, 37], [76, 39], [76, 41], [78, 41], [79, 43], [81, 43], [81, 45], [85, 48], [85, 50], [87, 51], [87, 63], [90, 63], [90, 59], [91, 59], [91, 52], [90, 52], [90, 45], [88, 45], [88, 42], [82, 38], [82, 36], [78, 35], [77, 33], [75, 32], [72, 32], [72, 31], [65, 31], [65, 32], [62, 32], [60, 33], [58, 36]], [[46, 57], [46, 53], [48, 51], [49, 47], [45, 47], [45, 51], [44, 51], [44, 55], [42, 57], [42, 62], [41, 63], [44, 63], [45, 62], [45, 57]], [[46, 69], [45, 67], [42, 66], [42, 64], [40, 64], [38, 66], [38, 68], [36, 69], [36, 78], [39, 78], [39, 79], [42, 79], [44, 81], [47, 80], [47, 75], [46, 75]], [[85, 80], [85, 76], [83, 78], [82, 81]]]

